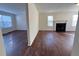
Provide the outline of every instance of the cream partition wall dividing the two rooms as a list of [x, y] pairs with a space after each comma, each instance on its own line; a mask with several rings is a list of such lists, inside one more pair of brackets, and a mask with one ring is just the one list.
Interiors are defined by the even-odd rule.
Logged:
[[29, 11], [29, 34], [30, 34], [30, 45], [33, 43], [38, 31], [39, 31], [39, 13], [34, 4], [28, 4]]

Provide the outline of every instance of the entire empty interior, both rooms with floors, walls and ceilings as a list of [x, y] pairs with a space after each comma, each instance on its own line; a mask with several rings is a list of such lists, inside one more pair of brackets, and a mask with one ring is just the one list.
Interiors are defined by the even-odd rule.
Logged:
[[0, 55], [79, 55], [78, 9], [77, 3], [0, 4]]

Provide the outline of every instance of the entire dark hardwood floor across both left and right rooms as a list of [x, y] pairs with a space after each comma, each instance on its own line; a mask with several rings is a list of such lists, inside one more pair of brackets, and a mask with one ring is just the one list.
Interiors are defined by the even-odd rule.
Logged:
[[70, 56], [74, 32], [40, 31], [31, 47], [27, 46], [27, 32], [15, 31], [4, 35], [8, 56]]

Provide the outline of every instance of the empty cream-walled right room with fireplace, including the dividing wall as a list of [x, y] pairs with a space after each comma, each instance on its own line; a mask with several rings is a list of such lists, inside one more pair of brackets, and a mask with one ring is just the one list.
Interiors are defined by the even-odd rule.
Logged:
[[70, 56], [78, 6], [73, 3], [35, 3], [28, 6], [31, 55]]

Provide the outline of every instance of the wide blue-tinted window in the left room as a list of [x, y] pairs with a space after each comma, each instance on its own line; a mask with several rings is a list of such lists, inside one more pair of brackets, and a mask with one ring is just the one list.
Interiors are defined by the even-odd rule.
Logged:
[[11, 16], [0, 15], [0, 25], [1, 28], [9, 28], [12, 27], [12, 19]]

